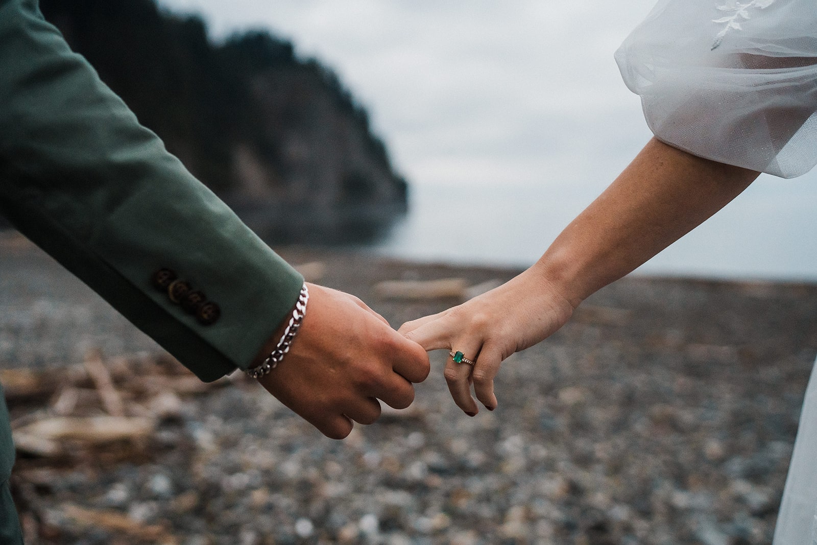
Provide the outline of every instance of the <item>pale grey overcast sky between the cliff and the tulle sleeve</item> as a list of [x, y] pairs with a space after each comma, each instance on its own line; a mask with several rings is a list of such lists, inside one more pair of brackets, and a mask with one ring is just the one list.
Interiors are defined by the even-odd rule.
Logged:
[[[528, 184], [649, 137], [613, 53], [652, 0], [163, 0], [261, 27], [337, 71], [409, 181]], [[510, 7], [510, 8], [509, 8]]]

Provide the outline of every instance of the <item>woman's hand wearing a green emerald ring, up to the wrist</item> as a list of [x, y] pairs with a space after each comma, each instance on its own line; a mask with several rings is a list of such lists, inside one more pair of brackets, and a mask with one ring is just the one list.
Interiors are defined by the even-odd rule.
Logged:
[[474, 363], [456, 363], [449, 355], [445, 381], [459, 408], [475, 416], [476, 398], [489, 410], [497, 407], [493, 394], [502, 360], [554, 333], [573, 314], [574, 306], [556, 284], [535, 266], [471, 301], [403, 324], [400, 333], [426, 351], [460, 351]]

